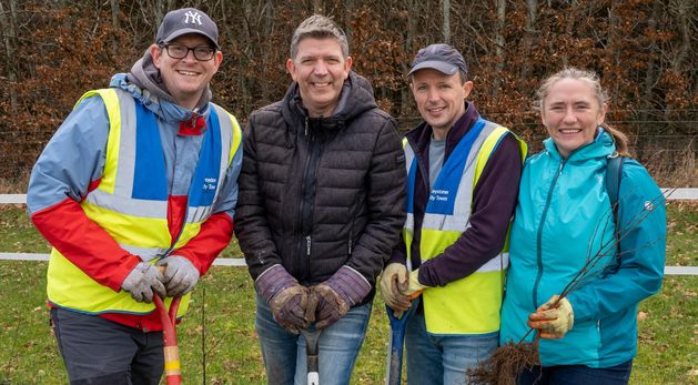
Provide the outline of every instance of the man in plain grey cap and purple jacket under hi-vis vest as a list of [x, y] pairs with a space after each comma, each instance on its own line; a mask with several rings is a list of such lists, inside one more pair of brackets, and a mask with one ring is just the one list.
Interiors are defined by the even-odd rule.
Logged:
[[419, 50], [408, 75], [424, 122], [406, 134], [407, 221], [381, 293], [396, 313], [418, 306], [407, 321], [407, 381], [465, 384], [497, 348], [526, 144], [467, 101], [473, 82], [453, 47]]

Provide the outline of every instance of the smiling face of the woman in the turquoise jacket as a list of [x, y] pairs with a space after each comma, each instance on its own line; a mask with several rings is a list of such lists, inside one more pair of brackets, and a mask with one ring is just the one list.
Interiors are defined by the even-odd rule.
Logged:
[[550, 85], [543, 100], [540, 119], [563, 158], [591, 143], [604, 122], [607, 105], [588, 82], [565, 78]]

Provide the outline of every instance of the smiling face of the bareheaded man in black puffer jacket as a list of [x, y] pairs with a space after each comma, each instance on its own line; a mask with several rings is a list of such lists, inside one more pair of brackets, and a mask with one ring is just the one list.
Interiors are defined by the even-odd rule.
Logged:
[[352, 69], [352, 58], [344, 58], [334, 38], [308, 37], [299, 42], [296, 57], [286, 61], [286, 69], [299, 83], [303, 107], [310, 115], [331, 116]]

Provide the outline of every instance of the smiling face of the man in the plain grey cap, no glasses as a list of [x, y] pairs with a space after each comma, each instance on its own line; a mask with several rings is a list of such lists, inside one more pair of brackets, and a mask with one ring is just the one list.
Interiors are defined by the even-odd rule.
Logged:
[[434, 138], [442, 140], [465, 113], [465, 99], [473, 82], [462, 83], [461, 73], [447, 75], [422, 69], [412, 75], [411, 88], [419, 114], [434, 130]]

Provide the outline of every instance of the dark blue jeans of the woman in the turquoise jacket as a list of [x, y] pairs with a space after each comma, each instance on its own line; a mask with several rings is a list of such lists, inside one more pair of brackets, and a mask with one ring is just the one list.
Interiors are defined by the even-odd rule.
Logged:
[[536, 366], [518, 375], [518, 385], [625, 385], [630, 379], [633, 359], [611, 367], [585, 365]]

